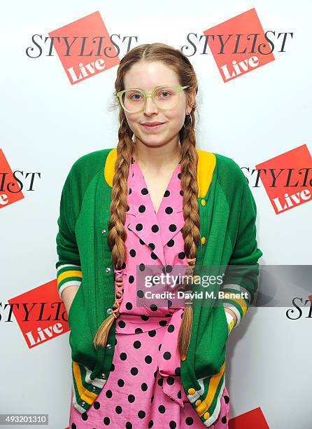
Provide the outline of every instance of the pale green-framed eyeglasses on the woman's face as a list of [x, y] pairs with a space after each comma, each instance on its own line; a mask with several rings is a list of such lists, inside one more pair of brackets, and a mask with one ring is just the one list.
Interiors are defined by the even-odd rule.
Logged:
[[128, 113], [139, 113], [146, 107], [146, 100], [151, 97], [158, 109], [169, 110], [178, 105], [180, 91], [188, 88], [180, 85], [157, 86], [151, 93], [139, 88], [129, 88], [117, 93], [122, 109]]

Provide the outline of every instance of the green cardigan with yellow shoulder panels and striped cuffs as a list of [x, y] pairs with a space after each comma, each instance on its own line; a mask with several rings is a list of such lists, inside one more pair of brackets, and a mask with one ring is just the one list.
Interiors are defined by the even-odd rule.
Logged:
[[[209, 286], [217, 295], [221, 289], [246, 292], [246, 299], [193, 299], [190, 346], [180, 361], [180, 376], [188, 400], [204, 425], [210, 426], [218, 418], [225, 386], [229, 334], [224, 306], [236, 313], [237, 326], [257, 290], [257, 261], [262, 251], [256, 240], [255, 200], [239, 165], [227, 156], [196, 150], [201, 240], [194, 274], [208, 268], [209, 275], [218, 275], [228, 264], [239, 265], [241, 273], [244, 266], [250, 268], [247, 274], [227, 274], [222, 287]], [[93, 337], [115, 301], [107, 237], [116, 158], [115, 148], [103, 149], [73, 163], [62, 189], [57, 221], [59, 296], [65, 287], [79, 286], [68, 317], [73, 405], [80, 413], [90, 409], [104, 387], [115, 348], [116, 321], [105, 348], [94, 349]], [[201, 290], [200, 284], [193, 285], [194, 292]]]

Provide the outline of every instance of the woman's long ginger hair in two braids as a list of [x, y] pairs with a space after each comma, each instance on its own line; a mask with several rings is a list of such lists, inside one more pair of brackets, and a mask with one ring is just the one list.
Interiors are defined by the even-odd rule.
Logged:
[[[186, 97], [189, 91], [198, 90], [197, 77], [192, 64], [180, 50], [172, 48], [164, 43], [150, 43], [136, 46], [120, 61], [115, 81], [115, 95], [124, 89], [124, 76], [133, 64], [139, 61], [158, 61], [171, 67], [176, 72], [180, 85], [189, 88], [185, 90]], [[106, 346], [108, 332], [113, 322], [120, 315], [120, 303], [122, 301], [123, 285], [122, 271], [125, 268], [127, 249], [125, 240], [126, 209], [127, 209], [127, 178], [129, 165], [134, 145], [132, 137], [134, 133], [127, 123], [125, 111], [120, 107], [118, 97], [115, 96], [113, 108], [119, 107], [120, 128], [118, 130], [117, 159], [115, 162], [115, 174], [113, 177], [113, 189], [111, 193], [110, 219], [108, 222], [108, 245], [112, 252], [112, 261], [115, 273], [115, 303], [113, 312], [101, 323], [94, 336], [94, 347]], [[181, 190], [183, 192], [183, 217], [185, 224], [182, 229], [184, 240], [184, 252], [187, 257], [187, 268], [185, 276], [192, 275], [196, 260], [197, 245], [199, 243], [199, 207], [198, 207], [198, 184], [197, 184], [197, 151], [195, 139], [195, 117], [196, 101], [192, 105], [190, 116], [185, 116], [184, 126], [180, 129], [180, 154], [181, 154]], [[178, 334], [178, 351], [181, 359], [185, 359], [187, 348], [190, 343], [192, 332], [193, 309], [192, 302], [185, 299], [185, 311]]]

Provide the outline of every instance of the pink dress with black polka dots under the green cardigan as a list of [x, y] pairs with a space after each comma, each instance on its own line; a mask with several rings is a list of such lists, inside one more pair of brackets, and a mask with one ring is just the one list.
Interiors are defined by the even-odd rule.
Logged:
[[[168, 300], [166, 306], [137, 305], [143, 295], [136, 282], [137, 271], [144, 273], [146, 266], [157, 265], [168, 273], [172, 266], [187, 266], [180, 231], [184, 224], [180, 168], [179, 163], [156, 213], [141, 168], [132, 158], [127, 181], [124, 294], [116, 320], [111, 372], [88, 411], [80, 414], [71, 403], [71, 429], [206, 427], [187, 399], [180, 379], [176, 346], [184, 308], [171, 306]], [[229, 407], [225, 388], [220, 414], [211, 429], [228, 428]]]

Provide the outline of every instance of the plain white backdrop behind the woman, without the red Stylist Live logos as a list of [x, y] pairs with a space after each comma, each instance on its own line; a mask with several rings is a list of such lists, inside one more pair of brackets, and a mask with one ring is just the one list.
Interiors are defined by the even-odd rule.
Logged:
[[[14, 315], [9, 318], [8, 300], [55, 280], [59, 198], [69, 168], [88, 152], [117, 145], [117, 111], [107, 106], [118, 66], [71, 85], [55, 49], [47, 56], [42, 42], [41, 56], [27, 56], [29, 46], [38, 55], [31, 37], [48, 37], [99, 11], [110, 34], [137, 36], [131, 47], [161, 41], [189, 46], [183, 50], [188, 55], [194, 50], [187, 34], [200, 36], [251, 8], [264, 32], [276, 32], [274, 61], [227, 83], [209, 46], [201, 55], [203, 42], [190, 61], [199, 81], [197, 146], [252, 170], [302, 144], [312, 151], [308, 0], [13, 1], [1, 7], [0, 149], [11, 170], [23, 172], [24, 198], [1, 207], [0, 413], [48, 414], [50, 428], [69, 424], [69, 332], [29, 348]], [[293, 34], [284, 52], [279, 32]], [[127, 43], [120, 42], [120, 59]], [[27, 172], [41, 173], [33, 191], [27, 191]], [[260, 263], [311, 264], [311, 201], [277, 215], [262, 182], [254, 185], [250, 179], [264, 253]], [[230, 335], [226, 386], [231, 418], [260, 407], [270, 428], [311, 428], [311, 318], [288, 319], [291, 306], [250, 308]], [[304, 312], [307, 316], [308, 309]]]

